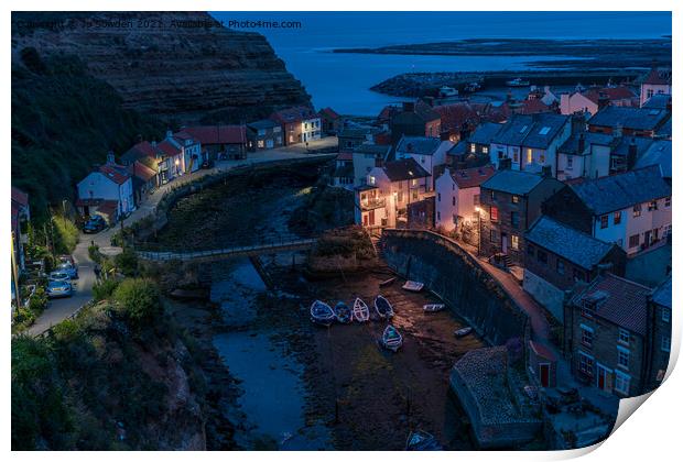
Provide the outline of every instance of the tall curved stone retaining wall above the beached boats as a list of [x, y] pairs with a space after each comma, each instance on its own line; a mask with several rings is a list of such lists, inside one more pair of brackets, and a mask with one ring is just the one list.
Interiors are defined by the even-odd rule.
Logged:
[[455, 241], [423, 230], [384, 230], [380, 252], [393, 271], [424, 283], [489, 343], [528, 337], [528, 315]]

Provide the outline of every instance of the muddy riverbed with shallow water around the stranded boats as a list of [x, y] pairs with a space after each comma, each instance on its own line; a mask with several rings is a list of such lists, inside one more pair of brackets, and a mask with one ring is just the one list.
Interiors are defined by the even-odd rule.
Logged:
[[[470, 449], [465, 416], [448, 389], [453, 363], [484, 342], [456, 339], [464, 324], [452, 312], [424, 314], [435, 301], [412, 294], [401, 282], [373, 273], [306, 280], [291, 255], [264, 257], [278, 282], [268, 290], [248, 260], [217, 265], [212, 298], [224, 317], [213, 343], [238, 388], [240, 424], [236, 442], [245, 449], [401, 450], [412, 429], [435, 435], [446, 449]], [[321, 328], [308, 306], [368, 304], [381, 293], [394, 306], [392, 320], [404, 336], [398, 353], [379, 344], [386, 321]]]

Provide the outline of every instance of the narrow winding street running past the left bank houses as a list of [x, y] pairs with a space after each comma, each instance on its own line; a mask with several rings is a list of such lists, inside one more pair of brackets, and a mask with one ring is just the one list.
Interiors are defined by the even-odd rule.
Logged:
[[[319, 150], [325, 147], [335, 146], [337, 139], [335, 136], [324, 138], [322, 140], [313, 141], [308, 144], [311, 150]], [[291, 158], [311, 157], [317, 155], [328, 154], [308, 154], [305, 145], [294, 145], [282, 147], [279, 150], [261, 151], [257, 153], [248, 153], [248, 157], [237, 161], [219, 161], [216, 166], [210, 169], [200, 169], [188, 175], [183, 175], [173, 182], [161, 186], [155, 189], [151, 195], [147, 197], [143, 204], [141, 204], [130, 217], [123, 221], [123, 226], [131, 226], [138, 220], [151, 215], [156, 209], [156, 205], [161, 198], [171, 188], [178, 187], [185, 183], [189, 183], [204, 175], [215, 174], [219, 172], [227, 172], [231, 168], [259, 164], [263, 162], [285, 161]], [[75, 314], [82, 306], [90, 301], [93, 298], [93, 285], [95, 285], [95, 263], [88, 255], [88, 246], [94, 242], [97, 246], [107, 248], [111, 245], [111, 238], [120, 230], [120, 223], [104, 230], [97, 234], [80, 234], [78, 244], [74, 250], [74, 261], [78, 265], [79, 279], [73, 282], [74, 295], [69, 298], [59, 298], [50, 300], [47, 308], [35, 320], [26, 331], [31, 336], [40, 336], [54, 324], [59, 323], [64, 319]]]

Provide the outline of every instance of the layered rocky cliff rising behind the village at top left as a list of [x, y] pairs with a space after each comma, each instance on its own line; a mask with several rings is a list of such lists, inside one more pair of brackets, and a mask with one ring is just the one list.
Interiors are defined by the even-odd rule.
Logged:
[[13, 63], [26, 47], [77, 56], [124, 108], [164, 120], [239, 121], [311, 99], [265, 37], [204, 12], [14, 13]]

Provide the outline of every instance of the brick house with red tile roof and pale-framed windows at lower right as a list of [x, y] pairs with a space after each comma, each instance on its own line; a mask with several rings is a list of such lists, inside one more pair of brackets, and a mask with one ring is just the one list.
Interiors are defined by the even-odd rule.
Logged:
[[662, 312], [649, 307], [651, 299], [649, 287], [610, 273], [574, 293], [564, 309], [564, 346], [577, 380], [622, 398], [652, 389], [650, 377], [669, 360], [666, 351], [653, 361], [652, 350], [668, 350], [670, 337], [668, 344], [654, 338]]

